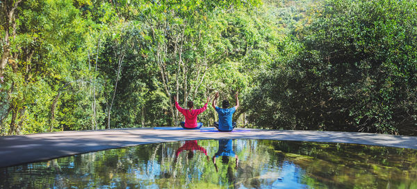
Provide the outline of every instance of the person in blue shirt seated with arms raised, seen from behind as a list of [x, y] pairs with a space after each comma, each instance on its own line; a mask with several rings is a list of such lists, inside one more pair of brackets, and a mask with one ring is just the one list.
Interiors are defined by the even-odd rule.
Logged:
[[236, 106], [228, 108], [229, 107], [229, 100], [223, 100], [222, 102], [222, 108], [216, 107], [216, 100], [219, 97], [219, 92], [215, 93], [213, 103], [211, 104], [215, 111], [217, 111], [219, 115], [219, 121], [214, 123], [214, 127], [216, 127], [220, 132], [231, 132], [234, 127], [236, 127], [236, 122], [232, 122], [231, 118], [239, 107], [239, 99], [238, 99], [238, 93], [236, 92], [235, 98], [236, 98]]

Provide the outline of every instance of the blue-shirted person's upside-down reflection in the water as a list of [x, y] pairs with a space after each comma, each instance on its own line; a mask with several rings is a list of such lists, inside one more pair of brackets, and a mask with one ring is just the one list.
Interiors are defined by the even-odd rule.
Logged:
[[236, 159], [236, 168], [238, 167], [238, 163], [239, 163], [238, 155], [236, 155], [235, 152], [233, 151], [233, 149], [232, 149], [233, 145], [232, 144], [233, 144], [233, 142], [231, 141], [231, 139], [220, 139], [219, 140], [219, 150], [213, 156], [213, 163], [214, 163], [215, 170], [217, 172], [218, 172], [218, 167], [217, 167], [217, 165], [215, 165], [215, 159], [220, 157], [220, 156], [222, 156], [222, 163], [224, 163], [224, 164], [229, 164], [229, 157], [235, 158]]

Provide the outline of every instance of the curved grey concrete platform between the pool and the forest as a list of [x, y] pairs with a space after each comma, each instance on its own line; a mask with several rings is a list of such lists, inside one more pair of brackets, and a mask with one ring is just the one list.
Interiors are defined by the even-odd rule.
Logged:
[[228, 133], [200, 132], [199, 130], [131, 128], [1, 136], [0, 168], [117, 147], [218, 138], [356, 143], [417, 149], [417, 136], [395, 136], [356, 132], [247, 130], [250, 132]]

